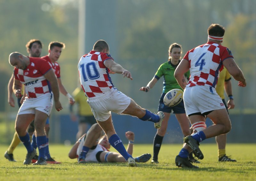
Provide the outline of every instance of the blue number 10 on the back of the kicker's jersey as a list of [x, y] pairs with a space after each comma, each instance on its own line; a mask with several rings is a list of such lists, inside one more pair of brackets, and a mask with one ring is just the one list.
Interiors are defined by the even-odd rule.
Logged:
[[[89, 79], [97, 79], [100, 77], [99, 71], [96, 68], [96, 64], [94, 62], [87, 63], [86, 65], [81, 64], [80, 68], [82, 69], [82, 76], [84, 79], [84, 82], [88, 81], [87, 76]], [[87, 74], [87, 76], [86, 76]]]

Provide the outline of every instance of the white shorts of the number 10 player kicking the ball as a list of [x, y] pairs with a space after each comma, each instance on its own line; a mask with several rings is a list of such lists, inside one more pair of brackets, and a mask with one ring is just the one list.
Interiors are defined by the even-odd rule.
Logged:
[[92, 109], [92, 113], [97, 121], [106, 121], [111, 112], [121, 114], [130, 105], [131, 98], [118, 91], [110, 89], [99, 98], [88, 98], [87, 103]]

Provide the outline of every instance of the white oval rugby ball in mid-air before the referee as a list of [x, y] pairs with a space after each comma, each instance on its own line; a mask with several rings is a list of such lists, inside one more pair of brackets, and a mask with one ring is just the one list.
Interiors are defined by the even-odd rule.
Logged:
[[172, 89], [171, 91], [167, 92], [164, 96], [164, 105], [173, 107], [178, 105], [183, 98], [183, 91], [180, 89]]

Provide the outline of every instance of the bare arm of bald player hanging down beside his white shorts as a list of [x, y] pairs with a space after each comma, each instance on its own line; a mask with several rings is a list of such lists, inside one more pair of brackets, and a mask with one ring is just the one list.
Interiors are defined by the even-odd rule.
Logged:
[[53, 93], [54, 102], [55, 102], [55, 109], [57, 111], [60, 111], [62, 109], [62, 106], [59, 100], [60, 91], [59, 91], [58, 81], [53, 72], [53, 69], [50, 69], [46, 74], [44, 74], [44, 77], [51, 83], [52, 93]]

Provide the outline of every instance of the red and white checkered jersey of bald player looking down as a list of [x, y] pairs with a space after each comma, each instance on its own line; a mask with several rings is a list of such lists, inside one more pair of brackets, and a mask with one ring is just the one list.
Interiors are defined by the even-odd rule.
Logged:
[[39, 98], [51, 92], [50, 82], [46, 80], [44, 74], [52, 68], [42, 58], [29, 57], [29, 61], [26, 70], [14, 68], [14, 77], [25, 85], [28, 98]]

